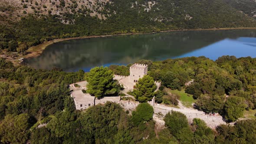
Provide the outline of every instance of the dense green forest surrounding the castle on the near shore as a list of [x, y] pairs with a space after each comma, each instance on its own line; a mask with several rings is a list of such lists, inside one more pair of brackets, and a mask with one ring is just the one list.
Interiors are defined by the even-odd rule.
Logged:
[[[207, 113], [219, 112], [227, 121], [235, 121], [243, 111], [255, 109], [255, 58], [223, 56], [214, 62], [190, 57], [138, 62], [148, 64], [148, 76], [143, 81], [151, 82], [152, 78], [161, 80], [163, 87], [185, 89], [197, 100], [195, 108]], [[119, 74], [128, 71], [126, 66], [109, 69]], [[109, 73], [107, 68], [104, 71]], [[234, 126], [220, 125], [213, 131], [200, 119], [189, 124], [184, 114], [172, 111], [164, 117], [166, 128], [156, 130], [153, 108], [147, 103], [141, 103], [135, 111], [124, 111], [110, 102], [76, 111], [68, 85], [86, 77], [90, 73], [37, 70], [0, 59], [1, 143], [255, 143], [255, 118], [240, 120]], [[184, 86], [191, 79], [194, 83]], [[163, 88], [155, 95], [159, 103], [173, 100], [167, 98], [172, 95], [164, 94]]]

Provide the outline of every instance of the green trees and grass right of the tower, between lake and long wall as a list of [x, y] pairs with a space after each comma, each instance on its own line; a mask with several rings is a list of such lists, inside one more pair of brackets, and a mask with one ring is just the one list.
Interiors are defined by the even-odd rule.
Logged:
[[[202, 56], [141, 62], [148, 64], [149, 76], [172, 89], [171, 94], [164, 90], [163, 97], [157, 97], [164, 104], [174, 106], [181, 99], [189, 107], [195, 102], [195, 108], [220, 113], [227, 121], [235, 121], [243, 111], [256, 108], [256, 58], [222, 56], [214, 62]], [[185, 86], [191, 79], [194, 82]], [[185, 91], [178, 91], [182, 88]]]

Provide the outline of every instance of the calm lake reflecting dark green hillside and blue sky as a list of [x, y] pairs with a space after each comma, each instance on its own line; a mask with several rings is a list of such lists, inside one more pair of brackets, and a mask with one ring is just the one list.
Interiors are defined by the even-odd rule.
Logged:
[[256, 29], [177, 31], [141, 35], [72, 39], [49, 45], [25, 65], [36, 69], [62, 68], [66, 72], [95, 66], [127, 65], [139, 59], [159, 61], [188, 56], [256, 57]]

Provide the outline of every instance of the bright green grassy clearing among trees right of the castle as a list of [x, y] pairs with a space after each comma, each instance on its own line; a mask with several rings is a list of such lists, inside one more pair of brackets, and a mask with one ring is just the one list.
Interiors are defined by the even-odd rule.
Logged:
[[192, 108], [192, 103], [196, 102], [196, 100], [194, 100], [194, 98], [192, 97], [192, 95], [187, 94], [186, 92], [184, 92], [184, 90], [178, 91], [178, 90], [170, 90], [171, 93], [173, 93], [174, 95], [179, 95], [182, 104], [185, 107], [188, 108]]

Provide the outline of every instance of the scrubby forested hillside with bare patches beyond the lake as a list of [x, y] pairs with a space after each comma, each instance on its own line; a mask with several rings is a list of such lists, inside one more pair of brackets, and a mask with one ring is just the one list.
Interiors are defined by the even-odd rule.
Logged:
[[173, 29], [255, 27], [222, 0], [3, 0], [0, 49], [24, 53], [51, 39]]

